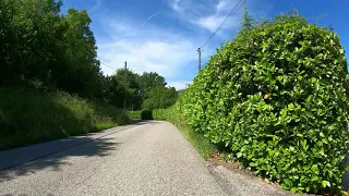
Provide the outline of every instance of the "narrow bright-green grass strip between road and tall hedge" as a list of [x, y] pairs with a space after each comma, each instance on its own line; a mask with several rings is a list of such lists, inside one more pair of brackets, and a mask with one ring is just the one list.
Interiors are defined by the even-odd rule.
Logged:
[[154, 111], [155, 120], [168, 121], [180, 130], [182, 135], [193, 145], [196, 151], [202, 158], [207, 160], [215, 151], [216, 147], [210, 140], [202, 133], [197, 133], [192, 130], [186, 123], [183, 117], [176, 114], [172, 109], [159, 109]]

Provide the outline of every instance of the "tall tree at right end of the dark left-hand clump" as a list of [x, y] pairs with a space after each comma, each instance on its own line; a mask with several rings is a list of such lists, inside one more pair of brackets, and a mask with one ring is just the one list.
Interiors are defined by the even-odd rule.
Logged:
[[[64, 33], [65, 60], [57, 70], [58, 87], [69, 93], [94, 97], [100, 87], [100, 65], [97, 58], [95, 37], [89, 29], [86, 11], [69, 9], [63, 16], [67, 25]], [[72, 85], [74, 84], [74, 85]]]

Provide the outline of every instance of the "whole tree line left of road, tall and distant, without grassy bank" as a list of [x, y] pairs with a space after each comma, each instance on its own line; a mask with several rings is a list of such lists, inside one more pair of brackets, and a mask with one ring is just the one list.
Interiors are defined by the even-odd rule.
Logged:
[[120, 69], [104, 76], [87, 12], [69, 9], [63, 15], [61, 5], [61, 0], [0, 0], [0, 87], [60, 89], [134, 110], [149, 106], [144, 100], [152, 99], [152, 108], [173, 102], [164, 95], [156, 103], [155, 91], [176, 96], [155, 72]]

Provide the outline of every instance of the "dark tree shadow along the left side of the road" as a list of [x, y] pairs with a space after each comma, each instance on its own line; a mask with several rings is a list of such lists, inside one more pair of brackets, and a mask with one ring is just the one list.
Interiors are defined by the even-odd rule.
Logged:
[[[141, 125], [153, 125], [159, 121], [140, 121], [129, 127], [120, 127], [120, 131]], [[106, 157], [115, 150], [120, 143], [117, 143], [108, 135], [118, 131], [106, 131], [91, 133], [82, 137], [64, 138], [32, 145], [27, 147], [0, 151], [0, 183], [11, 181], [16, 176], [29, 175], [44, 169], [61, 171], [69, 162], [69, 157]], [[101, 134], [100, 137], [89, 137], [94, 134]]]

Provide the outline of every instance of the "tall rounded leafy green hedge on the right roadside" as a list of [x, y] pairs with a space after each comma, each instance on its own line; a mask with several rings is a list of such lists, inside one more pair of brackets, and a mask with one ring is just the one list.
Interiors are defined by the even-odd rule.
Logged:
[[340, 193], [348, 152], [339, 38], [281, 15], [227, 42], [185, 93], [188, 123], [291, 192]]

